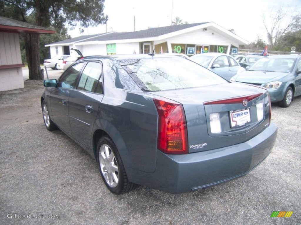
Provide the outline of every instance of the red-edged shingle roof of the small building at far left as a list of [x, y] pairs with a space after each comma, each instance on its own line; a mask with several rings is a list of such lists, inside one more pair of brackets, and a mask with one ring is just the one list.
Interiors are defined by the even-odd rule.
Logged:
[[[37, 30], [38, 33], [43, 33], [43, 31], [45, 31], [44, 33], [53, 33], [54, 31], [47, 29], [45, 27], [41, 27], [41, 26], [36, 26], [30, 23], [26, 23], [26, 22], [21, 22], [15, 19], [10, 19], [7, 17], [3, 17], [0, 16], [0, 25], [3, 25], [5, 27], [3, 27], [2, 29], [11, 29], [11, 30], [17, 30], [18, 32], [25, 32], [28, 31], [32, 31], [34, 32], [34, 30]], [[17, 28], [22, 28], [22, 29], [17, 29]], [[34, 30], [33, 30], [34, 29]]]

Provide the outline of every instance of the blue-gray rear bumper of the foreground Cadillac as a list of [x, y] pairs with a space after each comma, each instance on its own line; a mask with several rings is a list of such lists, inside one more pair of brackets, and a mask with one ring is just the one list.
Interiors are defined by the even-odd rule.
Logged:
[[268, 128], [251, 140], [220, 149], [187, 155], [167, 155], [157, 151], [154, 173], [126, 168], [131, 182], [169, 193], [184, 193], [210, 187], [249, 173], [272, 151], [277, 126]]

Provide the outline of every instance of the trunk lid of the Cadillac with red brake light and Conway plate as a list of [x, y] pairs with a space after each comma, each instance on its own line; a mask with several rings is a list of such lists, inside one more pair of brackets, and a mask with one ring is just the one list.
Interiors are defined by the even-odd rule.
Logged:
[[183, 105], [190, 153], [243, 143], [269, 125], [268, 92], [253, 85], [234, 82], [153, 94]]

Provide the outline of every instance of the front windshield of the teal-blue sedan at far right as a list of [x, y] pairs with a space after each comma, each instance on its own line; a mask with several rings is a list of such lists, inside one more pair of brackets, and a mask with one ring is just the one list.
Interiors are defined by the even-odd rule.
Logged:
[[295, 60], [294, 58], [264, 57], [255, 62], [249, 70], [288, 73], [292, 70]]

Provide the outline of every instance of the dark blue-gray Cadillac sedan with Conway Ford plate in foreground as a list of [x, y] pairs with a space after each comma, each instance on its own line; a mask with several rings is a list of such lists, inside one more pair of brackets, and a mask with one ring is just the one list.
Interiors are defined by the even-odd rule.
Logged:
[[86, 149], [115, 194], [134, 184], [183, 193], [238, 178], [277, 136], [266, 89], [178, 56], [85, 57], [44, 86], [46, 128]]

